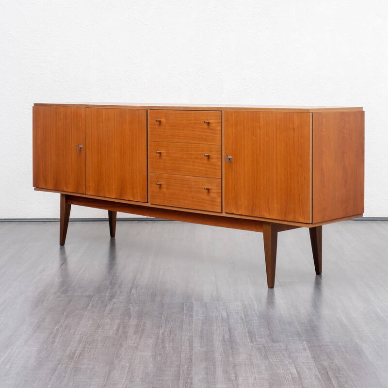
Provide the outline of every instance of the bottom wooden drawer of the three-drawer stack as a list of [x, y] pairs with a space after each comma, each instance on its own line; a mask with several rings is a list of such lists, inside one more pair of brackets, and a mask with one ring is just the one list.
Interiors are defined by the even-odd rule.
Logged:
[[149, 199], [155, 205], [220, 212], [221, 179], [150, 173]]

